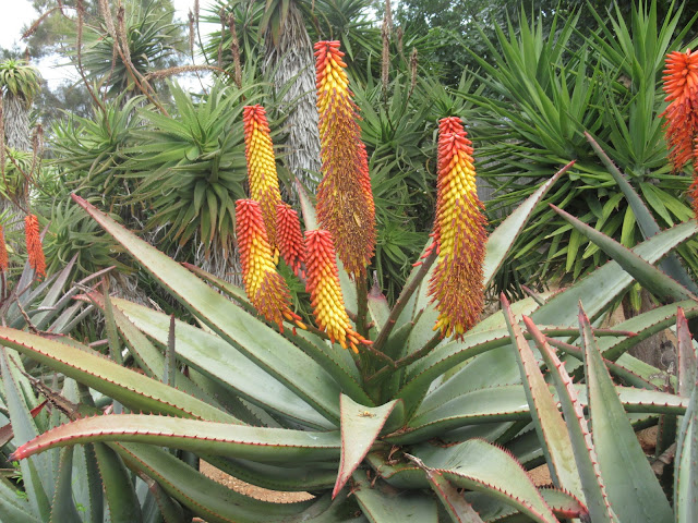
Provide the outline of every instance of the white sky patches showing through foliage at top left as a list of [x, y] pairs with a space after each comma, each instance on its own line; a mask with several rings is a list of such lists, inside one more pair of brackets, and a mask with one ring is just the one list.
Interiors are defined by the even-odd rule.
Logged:
[[[14, 42], [23, 48], [22, 41], [22, 27], [28, 26], [38, 16], [36, 11], [32, 8], [31, 0], [0, 0], [3, 4], [2, 13], [0, 15], [0, 47], [10, 49]], [[193, 9], [194, 0], [172, 0], [174, 9], [177, 11], [177, 17], [180, 20], [186, 20], [186, 15], [190, 9]], [[210, 0], [201, 1], [202, 11], [212, 3]], [[12, 7], [8, 7], [11, 4]], [[65, 68], [58, 66], [61, 62], [60, 57], [49, 58], [39, 64], [41, 75], [49, 81], [60, 82], [65, 77], [70, 77], [70, 73]]]

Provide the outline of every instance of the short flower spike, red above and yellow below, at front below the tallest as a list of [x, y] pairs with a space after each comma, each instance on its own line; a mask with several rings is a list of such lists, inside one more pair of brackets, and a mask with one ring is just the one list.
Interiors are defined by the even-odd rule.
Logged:
[[345, 309], [345, 300], [339, 285], [339, 273], [332, 233], [325, 230], [305, 231], [306, 290], [310, 292], [315, 323], [329, 336], [334, 343], [353, 352], [357, 344], [371, 344], [361, 335], [354, 332]]

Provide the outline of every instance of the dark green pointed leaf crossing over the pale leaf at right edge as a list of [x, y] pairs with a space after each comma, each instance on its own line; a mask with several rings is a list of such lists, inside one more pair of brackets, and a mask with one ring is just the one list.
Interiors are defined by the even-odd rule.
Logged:
[[673, 280], [652, 264], [645, 262], [629, 248], [613, 240], [594, 228], [578, 220], [574, 216], [551, 205], [553, 210], [567, 220], [575, 230], [595, 243], [605, 254], [617, 262], [642, 287], [654, 294], [660, 301], [673, 302], [677, 300], [695, 300], [696, 296], [684, 285]]

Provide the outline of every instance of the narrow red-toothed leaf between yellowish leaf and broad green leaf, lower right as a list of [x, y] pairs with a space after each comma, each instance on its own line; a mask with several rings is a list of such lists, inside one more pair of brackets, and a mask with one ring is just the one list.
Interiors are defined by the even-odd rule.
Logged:
[[[537, 330], [535, 324], [533, 324], [533, 320], [528, 316], [524, 316], [524, 323], [529, 331]], [[618, 519], [609, 503], [609, 497], [605, 485], [601, 478], [599, 460], [593, 449], [587, 419], [585, 418], [577, 392], [573, 387], [571, 379], [565, 370], [565, 366], [555, 354], [555, 351], [553, 351], [547, 343], [540, 343], [538, 339], [533, 339], [537, 340], [535, 344], [538, 350], [541, 352], [553, 382], [555, 384], [555, 388], [557, 389], [591, 521], [594, 523], [617, 522]]]

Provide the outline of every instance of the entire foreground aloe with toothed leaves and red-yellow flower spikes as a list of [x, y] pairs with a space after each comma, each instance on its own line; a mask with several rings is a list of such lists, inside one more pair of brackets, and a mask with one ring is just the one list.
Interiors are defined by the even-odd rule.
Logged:
[[[74, 196], [198, 325], [93, 291], [84, 299], [105, 312], [111, 358], [76, 340], [0, 328], [3, 354], [19, 351], [85, 386], [81, 398], [61, 402], [71, 423], [21, 439], [14, 458], [37, 469], [41, 452], [57, 447], [110, 449], [112, 464], [103, 474], [112, 467], [122, 474], [125, 465], [157, 484], [171, 509], [163, 511], [165, 521], [188, 521], [180, 506], [212, 522], [657, 522], [674, 521], [673, 510], [676, 521], [691, 521], [695, 500], [686, 484], [697, 471], [690, 458], [696, 392], [687, 396], [695, 356], [682, 318], [696, 317], [698, 305], [653, 264], [693, 238], [696, 222], [648, 232], [653, 235], [629, 251], [559, 211], [614, 262], [563, 292], [505, 302], [503, 312], [482, 319], [484, 290], [571, 165], [486, 238], [471, 144], [460, 120], [446, 118], [438, 130], [433, 239], [390, 308], [377, 285], [366, 289], [375, 209], [341, 53], [338, 42], [318, 42], [316, 50], [324, 179], [316, 211], [299, 193], [304, 241], [297, 216], [279, 203], [264, 111], [244, 110], [250, 191], [258, 198], [236, 204], [246, 292], [177, 264]], [[651, 228], [637, 194], [623, 187]], [[291, 309], [277, 256], [306, 280], [316, 327]], [[601, 328], [603, 313], [634, 279], [666, 305]], [[528, 317], [538, 349], [521, 333], [519, 315]], [[677, 315], [687, 370], [676, 385], [627, 350]], [[137, 368], [123, 364], [124, 349]], [[557, 400], [541, 374], [545, 367]], [[681, 394], [666, 391], [667, 382]], [[61, 401], [56, 391], [46, 393]], [[98, 394], [111, 399], [107, 412], [94, 405]], [[673, 510], [633, 435], [633, 426], [672, 416], [684, 416], [686, 429], [678, 437]], [[62, 452], [63, 463], [72, 459]], [[192, 454], [254, 485], [309, 491], [314, 499], [277, 504], [245, 497], [200, 474]], [[526, 473], [542, 463], [551, 488], [538, 488]], [[15, 521], [52, 513], [82, 519], [67, 482], [60, 485], [64, 496], [53, 499], [61, 512], [31, 485], [23, 501], [0, 490], [0, 508], [11, 507]], [[131, 510], [133, 483], [121, 485], [109, 504], [112, 518], [146, 521]]]

